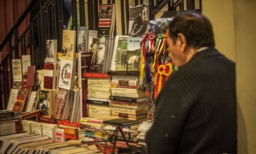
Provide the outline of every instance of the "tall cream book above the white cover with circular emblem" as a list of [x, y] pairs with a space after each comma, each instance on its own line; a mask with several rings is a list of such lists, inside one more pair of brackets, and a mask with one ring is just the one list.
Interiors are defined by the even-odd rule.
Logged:
[[76, 31], [63, 30], [62, 58], [74, 62], [75, 60]]

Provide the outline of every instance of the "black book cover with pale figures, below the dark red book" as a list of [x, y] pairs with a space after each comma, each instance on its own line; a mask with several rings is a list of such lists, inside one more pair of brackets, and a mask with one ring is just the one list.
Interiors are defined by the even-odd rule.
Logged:
[[41, 111], [41, 116], [51, 116], [51, 91], [39, 89], [38, 108]]

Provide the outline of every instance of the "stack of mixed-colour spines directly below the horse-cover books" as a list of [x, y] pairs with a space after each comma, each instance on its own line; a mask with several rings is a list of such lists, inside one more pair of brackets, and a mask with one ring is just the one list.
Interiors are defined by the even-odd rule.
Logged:
[[112, 116], [140, 122], [147, 120], [145, 92], [137, 89], [138, 84], [137, 76], [112, 76], [109, 97]]

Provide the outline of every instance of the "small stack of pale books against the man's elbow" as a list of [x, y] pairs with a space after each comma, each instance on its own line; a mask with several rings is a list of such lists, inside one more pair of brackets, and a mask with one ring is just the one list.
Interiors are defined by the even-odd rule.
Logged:
[[137, 136], [138, 144], [140, 146], [145, 147], [147, 145], [145, 142], [145, 135], [152, 125], [153, 125], [153, 121], [143, 121], [143, 123], [140, 124], [138, 128], [140, 134], [139, 136]]

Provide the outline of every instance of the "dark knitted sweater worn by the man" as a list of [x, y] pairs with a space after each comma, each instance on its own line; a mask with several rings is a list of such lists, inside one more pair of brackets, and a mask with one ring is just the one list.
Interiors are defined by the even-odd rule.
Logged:
[[198, 52], [164, 84], [148, 153], [237, 152], [235, 65], [216, 49]]

